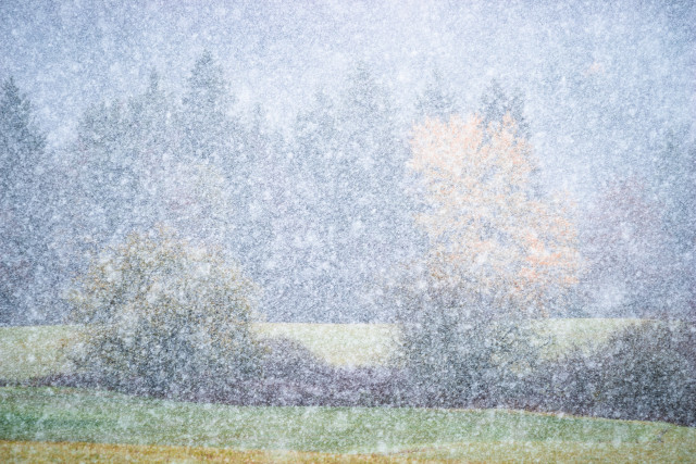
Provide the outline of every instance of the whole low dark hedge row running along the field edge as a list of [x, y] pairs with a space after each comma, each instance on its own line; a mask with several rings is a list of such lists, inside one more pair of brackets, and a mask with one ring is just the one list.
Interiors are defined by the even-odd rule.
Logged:
[[[213, 384], [201, 375], [198, 388], [167, 398], [238, 405], [513, 407], [696, 426], [696, 326], [685, 323], [630, 327], [592, 352], [539, 361], [505, 378], [480, 376], [475, 398], [452, 384], [442, 394], [443, 386], [415, 381], [408, 367], [335, 367], [283, 339], [266, 348], [261, 377]], [[114, 389], [98, 374], [54, 375], [25, 385]], [[152, 394], [137, 379], [120, 387]]]

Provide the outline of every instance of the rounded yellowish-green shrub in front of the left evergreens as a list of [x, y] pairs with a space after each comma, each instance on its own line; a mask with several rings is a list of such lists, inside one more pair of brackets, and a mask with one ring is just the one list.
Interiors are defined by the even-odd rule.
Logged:
[[79, 277], [73, 353], [111, 387], [182, 397], [254, 376], [257, 286], [216, 251], [161, 229], [132, 234]]

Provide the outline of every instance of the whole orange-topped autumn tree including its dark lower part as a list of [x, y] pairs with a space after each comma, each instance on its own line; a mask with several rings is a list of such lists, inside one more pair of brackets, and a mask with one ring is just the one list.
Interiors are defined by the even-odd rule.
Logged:
[[509, 116], [487, 127], [475, 115], [430, 120], [411, 149], [430, 247], [389, 290], [414, 394], [433, 406], [523, 398], [539, 356], [520, 319], [545, 315], [575, 284], [575, 229], [534, 192], [531, 148]]

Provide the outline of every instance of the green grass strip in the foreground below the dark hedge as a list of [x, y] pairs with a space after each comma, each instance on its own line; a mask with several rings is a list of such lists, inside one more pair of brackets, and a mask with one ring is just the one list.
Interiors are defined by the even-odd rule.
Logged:
[[[382, 456], [377, 461], [696, 460], [696, 429], [663, 423], [502, 410], [240, 407], [55, 388], [0, 388], [0, 439], [5, 440], [0, 453], [21, 456], [36, 447], [37, 459], [55, 450], [35, 441], [76, 443], [55, 444], [59, 452], [60, 447], [86, 452], [79, 443], [141, 446], [148, 447], [142, 452], [164, 454], [229, 449], [250, 451], [249, 460], [261, 462], [302, 460], [302, 453], [327, 453], [314, 455], [315, 461], [350, 455]], [[92, 451], [98, 454], [99, 448]], [[102, 452], [139, 451], [105, 447]]]

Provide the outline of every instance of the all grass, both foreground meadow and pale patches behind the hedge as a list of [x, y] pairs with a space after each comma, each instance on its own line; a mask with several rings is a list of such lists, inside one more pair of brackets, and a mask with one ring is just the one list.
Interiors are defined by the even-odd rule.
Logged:
[[[557, 355], [638, 319], [535, 323]], [[70, 369], [79, 326], [0, 328], [0, 378]], [[257, 324], [335, 365], [378, 365], [391, 325]], [[59, 388], [0, 388], [0, 462], [696, 462], [696, 429], [514, 411], [239, 407]]]

